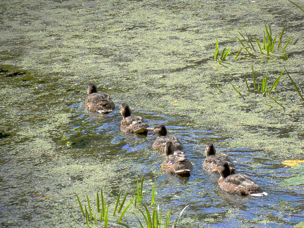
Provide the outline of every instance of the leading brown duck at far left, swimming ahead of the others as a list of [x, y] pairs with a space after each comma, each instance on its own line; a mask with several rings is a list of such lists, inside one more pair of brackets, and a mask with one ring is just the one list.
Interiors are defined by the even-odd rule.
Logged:
[[105, 92], [98, 92], [94, 83], [88, 84], [88, 96], [85, 99], [85, 108], [92, 112], [109, 113], [115, 109], [114, 102]]

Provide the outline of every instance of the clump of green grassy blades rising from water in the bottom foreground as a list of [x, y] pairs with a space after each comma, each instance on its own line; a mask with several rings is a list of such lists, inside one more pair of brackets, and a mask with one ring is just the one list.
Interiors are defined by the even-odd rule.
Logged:
[[[150, 181], [152, 180], [144, 181], [143, 177], [140, 181], [137, 180], [137, 186], [136, 188], [134, 188], [134, 196], [129, 200], [127, 200], [127, 195], [130, 195], [130, 193], [128, 192], [126, 192], [124, 194], [123, 199], [120, 200], [122, 189], [116, 197], [112, 192], [104, 191], [101, 188], [100, 192], [96, 193], [96, 201], [93, 202], [93, 205], [96, 205], [96, 211], [92, 210], [92, 200], [89, 200], [88, 194], [86, 194], [83, 203], [81, 203], [81, 199], [79, 198], [79, 196], [75, 194], [79, 205], [79, 212], [81, 212], [82, 216], [84, 217], [84, 221], [82, 223], [86, 224], [88, 227], [93, 227], [95, 224], [98, 225], [98, 227], [102, 226], [106, 228], [108, 227], [108, 225], [111, 224], [128, 228], [130, 227], [128, 224], [122, 223], [124, 215], [128, 213], [129, 215], [132, 214], [133, 216], [135, 216], [134, 218], [136, 218], [140, 227], [142, 228], [167, 228], [169, 227], [169, 224], [172, 223], [172, 227], [175, 227], [179, 219], [181, 218], [181, 215], [189, 205], [185, 206], [181, 210], [181, 212], [178, 214], [178, 216], [176, 216], [176, 219], [174, 221], [172, 221], [171, 219], [173, 209], [173, 205], [171, 205], [171, 209], [165, 213], [165, 216], [163, 217], [164, 219], [162, 219], [162, 214], [164, 214], [164, 212], [162, 211], [162, 209], [160, 209], [159, 205], [156, 206], [156, 208], [152, 207], [154, 203], [154, 196], [157, 194], [155, 182], [153, 183], [152, 187], [151, 202], [143, 202], [143, 193], [150, 191], [150, 188], [143, 189], [143, 184]], [[112, 200], [106, 199], [106, 193], [111, 196]], [[128, 202], [127, 204], [126, 201]], [[150, 206], [147, 206], [149, 204]], [[68, 210], [75, 223], [79, 226], [82, 226], [79, 222], [81, 218], [75, 218], [71, 210], [69, 208]], [[133, 223], [135, 222], [134, 220], [130, 220], [130, 218], [128, 219], [128, 221], [132, 221]]]

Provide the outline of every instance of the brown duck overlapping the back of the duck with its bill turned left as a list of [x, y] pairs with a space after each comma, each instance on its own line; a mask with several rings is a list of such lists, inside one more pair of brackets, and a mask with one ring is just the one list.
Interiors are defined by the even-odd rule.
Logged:
[[171, 172], [182, 177], [189, 176], [192, 170], [192, 164], [184, 154], [174, 154], [174, 146], [172, 142], [166, 142], [164, 152], [166, 159], [161, 165], [161, 170]]

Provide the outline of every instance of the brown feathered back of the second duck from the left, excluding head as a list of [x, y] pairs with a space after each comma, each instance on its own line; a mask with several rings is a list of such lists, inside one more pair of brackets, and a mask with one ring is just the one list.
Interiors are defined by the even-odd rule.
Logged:
[[140, 116], [128, 116], [120, 122], [120, 130], [136, 134], [147, 134], [149, 125]]

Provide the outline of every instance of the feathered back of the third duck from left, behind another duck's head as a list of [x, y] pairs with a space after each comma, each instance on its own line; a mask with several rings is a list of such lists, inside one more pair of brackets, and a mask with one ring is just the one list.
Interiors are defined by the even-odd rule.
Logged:
[[[166, 142], [172, 142], [174, 147], [174, 154], [183, 154], [183, 145], [178, 139], [173, 135], [159, 136], [154, 141], [152, 147], [153, 150], [163, 151], [166, 147]], [[175, 152], [176, 151], [176, 152]]]

